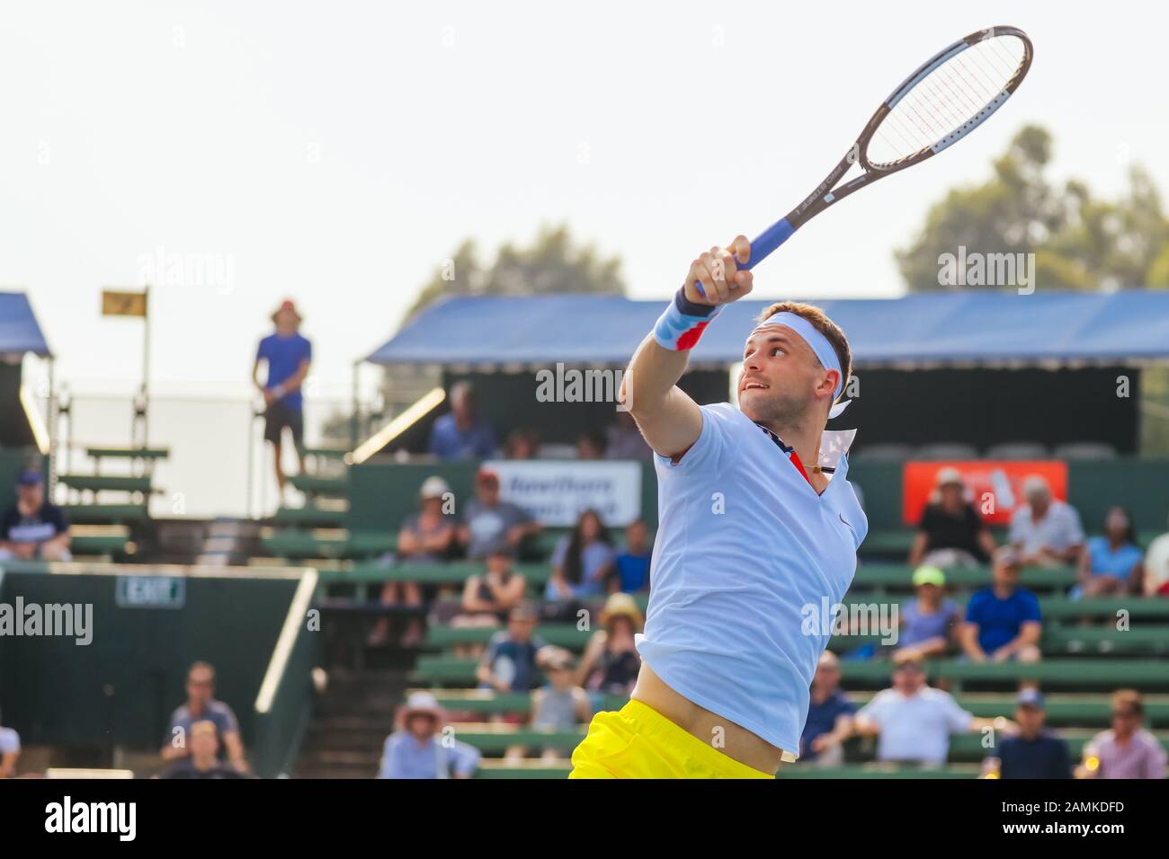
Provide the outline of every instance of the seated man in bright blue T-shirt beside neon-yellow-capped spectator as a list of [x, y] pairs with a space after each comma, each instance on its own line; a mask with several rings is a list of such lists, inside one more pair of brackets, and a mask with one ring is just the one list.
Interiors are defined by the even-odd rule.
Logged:
[[1019, 587], [1019, 553], [1010, 546], [995, 552], [989, 588], [970, 596], [962, 629], [962, 649], [975, 661], [1039, 660], [1039, 601]]

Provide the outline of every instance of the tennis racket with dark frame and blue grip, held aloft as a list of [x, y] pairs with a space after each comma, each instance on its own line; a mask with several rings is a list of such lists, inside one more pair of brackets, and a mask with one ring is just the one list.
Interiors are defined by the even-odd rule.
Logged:
[[[1030, 68], [1031, 40], [1017, 27], [971, 33], [932, 56], [877, 109], [816, 190], [755, 237], [749, 261], [739, 268], [754, 268], [804, 223], [849, 194], [961, 140], [1003, 106]], [[862, 174], [836, 187], [855, 164]], [[696, 285], [703, 292], [701, 285]]]

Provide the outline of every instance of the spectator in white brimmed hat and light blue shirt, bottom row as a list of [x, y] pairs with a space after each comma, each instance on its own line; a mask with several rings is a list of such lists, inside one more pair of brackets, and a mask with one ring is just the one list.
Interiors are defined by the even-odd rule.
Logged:
[[379, 778], [471, 778], [483, 755], [473, 746], [435, 735], [444, 720], [429, 692], [414, 692], [397, 714], [397, 729], [386, 737]]

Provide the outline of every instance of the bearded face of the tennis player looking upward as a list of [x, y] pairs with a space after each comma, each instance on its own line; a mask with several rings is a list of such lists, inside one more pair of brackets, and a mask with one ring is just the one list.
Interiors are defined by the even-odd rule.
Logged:
[[755, 422], [800, 423], [824, 377], [816, 353], [802, 338], [777, 326], [761, 328], [743, 348], [739, 408]]

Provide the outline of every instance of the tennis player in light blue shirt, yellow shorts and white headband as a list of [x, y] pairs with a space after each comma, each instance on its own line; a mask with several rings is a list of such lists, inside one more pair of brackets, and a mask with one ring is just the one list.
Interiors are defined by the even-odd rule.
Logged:
[[573, 778], [773, 778], [796, 758], [830, 637], [810, 612], [843, 598], [869, 524], [845, 479], [853, 432], [824, 431], [852, 356], [821, 310], [763, 312], [739, 408], [677, 387], [703, 330], [750, 292], [738, 268], [749, 254], [739, 236], [696, 259], [625, 373], [623, 401], [656, 452], [652, 588], [637, 685], [594, 716]]

